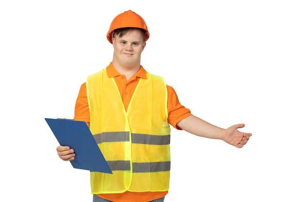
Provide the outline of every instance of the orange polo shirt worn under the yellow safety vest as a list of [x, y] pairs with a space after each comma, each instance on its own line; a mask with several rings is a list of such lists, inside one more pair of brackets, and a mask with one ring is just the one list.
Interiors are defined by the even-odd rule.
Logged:
[[[146, 71], [141, 66], [139, 71], [128, 81], [124, 75], [121, 75], [114, 68], [112, 63], [106, 67], [107, 75], [109, 78], [114, 78], [119, 91], [125, 109], [128, 108], [130, 100], [135, 92], [136, 86], [140, 78], [147, 78]], [[168, 111], [168, 123], [177, 129], [176, 125], [182, 119], [192, 115], [189, 109], [186, 109], [179, 102], [178, 96], [171, 86], [167, 86], [167, 111]], [[87, 99], [86, 83], [81, 85], [75, 106], [75, 117], [74, 120], [90, 122], [90, 110]], [[149, 202], [155, 199], [159, 199], [167, 195], [168, 191], [164, 192], [130, 192], [117, 194], [98, 194], [99, 197], [114, 201], [114, 202]]]

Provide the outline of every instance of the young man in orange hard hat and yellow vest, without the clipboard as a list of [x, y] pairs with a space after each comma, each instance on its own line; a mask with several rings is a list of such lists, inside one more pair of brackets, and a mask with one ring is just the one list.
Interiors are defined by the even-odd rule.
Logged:
[[[75, 120], [85, 121], [113, 174], [91, 172], [93, 202], [163, 202], [169, 188], [170, 127], [224, 140], [242, 148], [250, 133], [235, 124], [209, 124], [182, 106], [162, 77], [141, 66], [149, 39], [144, 19], [129, 10], [114, 18], [107, 39], [113, 60], [81, 85]], [[57, 147], [62, 160], [75, 159], [72, 148]], [[96, 159], [97, 160], [97, 159]]]

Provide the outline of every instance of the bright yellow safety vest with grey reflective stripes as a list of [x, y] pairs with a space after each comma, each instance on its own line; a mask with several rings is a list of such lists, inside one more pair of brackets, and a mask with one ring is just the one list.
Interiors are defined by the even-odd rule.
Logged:
[[[87, 78], [90, 129], [113, 174], [91, 171], [91, 193], [167, 191], [170, 127], [164, 79], [140, 78], [127, 111], [106, 69]], [[98, 159], [96, 159], [98, 160]]]

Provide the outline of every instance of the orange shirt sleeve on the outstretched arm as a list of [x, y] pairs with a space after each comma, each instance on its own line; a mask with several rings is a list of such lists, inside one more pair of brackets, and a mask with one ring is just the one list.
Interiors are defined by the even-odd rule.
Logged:
[[175, 90], [167, 85], [167, 111], [168, 111], [168, 123], [178, 130], [182, 130], [177, 124], [184, 118], [192, 115], [191, 111], [185, 108], [179, 102], [177, 93]]

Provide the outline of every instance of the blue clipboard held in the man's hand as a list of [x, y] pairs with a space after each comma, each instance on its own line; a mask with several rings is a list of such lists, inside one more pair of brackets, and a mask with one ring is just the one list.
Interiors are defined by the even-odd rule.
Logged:
[[61, 146], [74, 149], [76, 156], [70, 161], [74, 168], [112, 174], [85, 122], [49, 118], [45, 118], [45, 121]]

